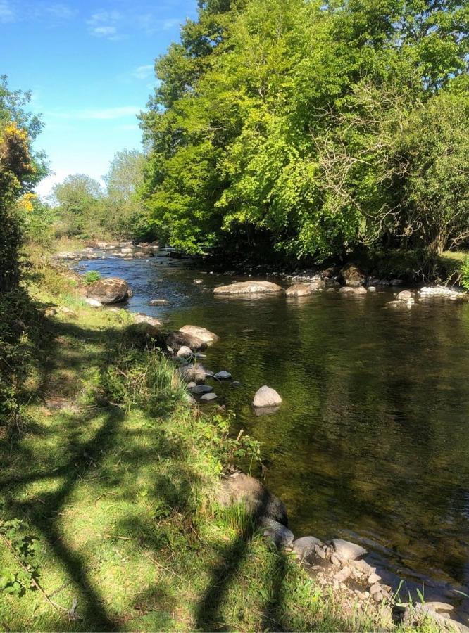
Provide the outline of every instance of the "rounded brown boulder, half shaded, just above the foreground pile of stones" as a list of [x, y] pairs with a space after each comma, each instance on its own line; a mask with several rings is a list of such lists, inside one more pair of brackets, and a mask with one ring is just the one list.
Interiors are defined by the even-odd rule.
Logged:
[[218, 503], [225, 508], [244, 504], [246, 510], [254, 516], [267, 517], [282, 525], [288, 524], [287, 509], [283, 501], [277, 499], [260, 481], [239, 471], [222, 480]]

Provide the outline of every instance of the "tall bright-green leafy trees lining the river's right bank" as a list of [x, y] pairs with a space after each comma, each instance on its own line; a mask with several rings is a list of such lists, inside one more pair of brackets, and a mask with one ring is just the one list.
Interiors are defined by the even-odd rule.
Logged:
[[469, 6], [207, 0], [156, 61], [142, 198], [190, 252], [469, 237]]

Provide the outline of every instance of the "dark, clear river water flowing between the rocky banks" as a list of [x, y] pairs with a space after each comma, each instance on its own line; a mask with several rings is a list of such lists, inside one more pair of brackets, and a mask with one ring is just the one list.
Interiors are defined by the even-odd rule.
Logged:
[[[215, 286], [241, 278], [163, 256], [80, 267], [125, 279], [132, 312], [220, 336], [204, 364], [241, 387], [216, 385], [216, 402], [261, 442], [265, 484], [295, 535], [351, 539], [389, 578], [467, 605], [458, 591], [469, 594], [468, 304], [389, 309], [391, 290], [217, 298]], [[149, 307], [157, 298], [170, 305]], [[264, 384], [283, 403], [257, 417], [251, 402]]]

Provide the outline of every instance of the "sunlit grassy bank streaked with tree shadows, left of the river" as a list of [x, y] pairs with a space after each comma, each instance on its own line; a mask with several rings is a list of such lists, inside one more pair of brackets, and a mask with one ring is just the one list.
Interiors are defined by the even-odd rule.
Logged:
[[0, 629], [393, 628], [344, 613], [213, 504], [237, 449], [223, 414], [187, 406], [127, 314], [90, 309], [31, 261], [30, 354], [0, 437]]

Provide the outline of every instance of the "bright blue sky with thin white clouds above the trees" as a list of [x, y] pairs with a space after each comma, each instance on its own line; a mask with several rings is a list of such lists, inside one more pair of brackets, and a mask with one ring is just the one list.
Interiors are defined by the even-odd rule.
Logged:
[[153, 91], [154, 58], [196, 17], [196, 0], [0, 0], [0, 75], [31, 89], [43, 114], [37, 148], [54, 175], [99, 179], [114, 153], [140, 148], [135, 115]]

